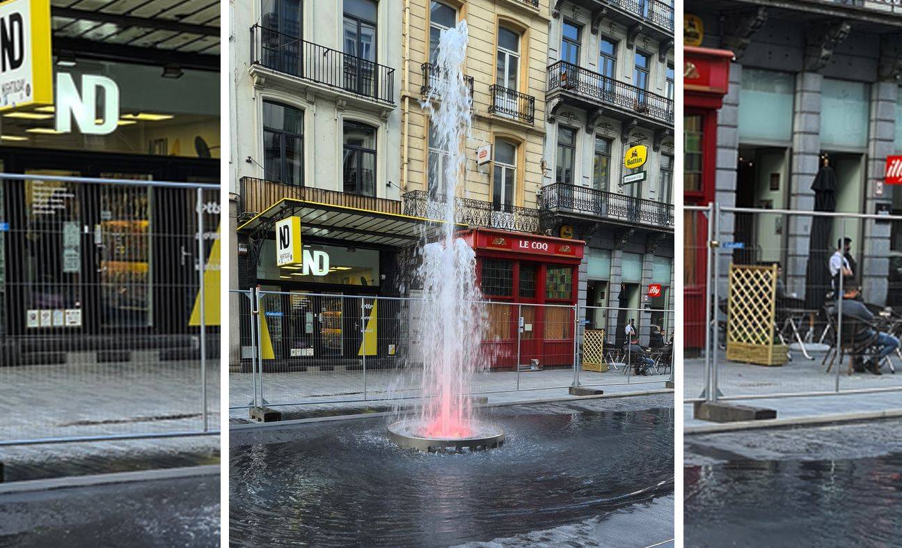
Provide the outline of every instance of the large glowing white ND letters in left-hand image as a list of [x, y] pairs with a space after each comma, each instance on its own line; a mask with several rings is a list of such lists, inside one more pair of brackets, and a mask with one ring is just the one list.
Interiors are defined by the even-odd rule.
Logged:
[[[119, 88], [106, 76], [83, 74], [81, 93], [72, 75], [57, 74], [56, 130], [72, 131], [72, 118], [78, 129], [87, 135], [107, 135], [115, 131], [119, 123]], [[97, 112], [97, 92], [104, 93], [104, 111]]]

